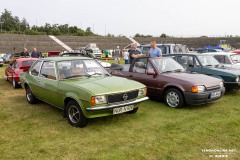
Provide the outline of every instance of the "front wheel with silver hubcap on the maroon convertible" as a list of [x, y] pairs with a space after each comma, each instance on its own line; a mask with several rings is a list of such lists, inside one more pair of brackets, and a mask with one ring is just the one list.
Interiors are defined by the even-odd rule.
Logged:
[[165, 92], [164, 101], [171, 108], [181, 108], [184, 104], [182, 93], [175, 88], [170, 88]]

